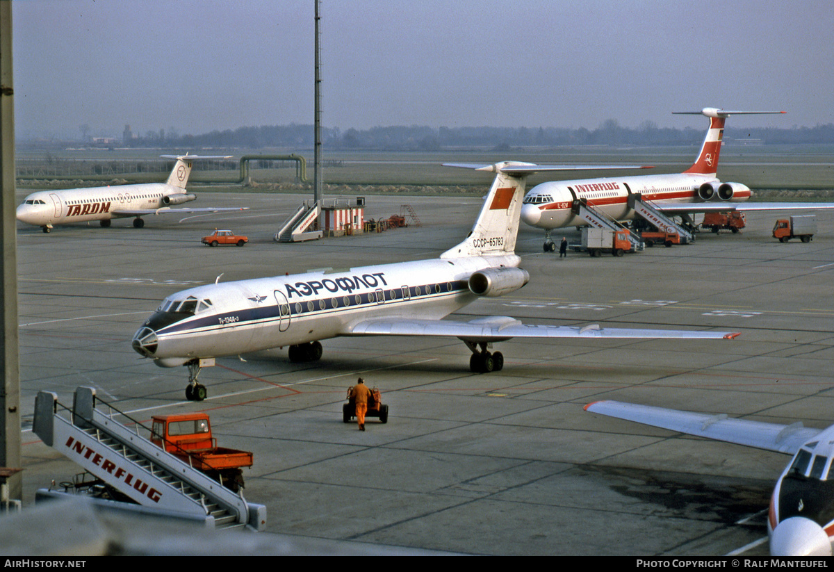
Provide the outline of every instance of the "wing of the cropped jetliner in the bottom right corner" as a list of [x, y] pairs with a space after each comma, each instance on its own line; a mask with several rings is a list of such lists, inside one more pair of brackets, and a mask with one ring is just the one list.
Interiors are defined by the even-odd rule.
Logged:
[[726, 414], [691, 413], [620, 401], [596, 401], [585, 405], [585, 411], [706, 437], [706, 439], [716, 439], [786, 454], [795, 454], [803, 444], [822, 432], [822, 429], [802, 427], [801, 423], [791, 425], [761, 423], [749, 419], [731, 419]]

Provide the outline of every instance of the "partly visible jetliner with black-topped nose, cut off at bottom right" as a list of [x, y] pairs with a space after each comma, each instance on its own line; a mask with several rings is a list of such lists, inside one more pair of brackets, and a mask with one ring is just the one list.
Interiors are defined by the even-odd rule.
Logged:
[[597, 401], [585, 411], [636, 423], [792, 454], [776, 481], [767, 518], [774, 556], [831, 556], [834, 541], [834, 425], [811, 429], [749, 419], [663, 409], [619, 401]]

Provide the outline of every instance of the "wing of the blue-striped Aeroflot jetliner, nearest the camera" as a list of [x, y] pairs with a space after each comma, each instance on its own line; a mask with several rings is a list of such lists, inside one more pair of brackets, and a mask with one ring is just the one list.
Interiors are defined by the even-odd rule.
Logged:
[[354, 336], [450, 336], [471, 342], [500, 342], [510, 338], [609, 338], [609, 339], [733, 339], [738, 333], [675, 329], [600, 328], [590, 324], [546, 326], [522, 324], [509, 316], [479, 318], [470, 322], [430, 319], [369, 319], [354, 324], [343, 335]]

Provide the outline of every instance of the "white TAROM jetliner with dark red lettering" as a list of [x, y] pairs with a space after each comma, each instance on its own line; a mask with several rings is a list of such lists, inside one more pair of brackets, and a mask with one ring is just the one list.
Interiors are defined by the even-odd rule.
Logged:
[[142, 218], [144, 215], [246, 210], [244, 207], [171, 208], [172, 205], [197, 199], [196, 196], [185, 191], [193, 161], [229, 157], [208, 155], [162, 155], [162, 157], [176, 159], [168, 181], [165, 183], [38, 191], [30, 194], [18, 206], [18, 220], [41, 227], [44, 233], [48, 233], [56, 224], [86, 223], [98, 220], [101, 226], [109, 227], [113, 218], [134, 217], [133, 226], [142, 228], [145, 224]]

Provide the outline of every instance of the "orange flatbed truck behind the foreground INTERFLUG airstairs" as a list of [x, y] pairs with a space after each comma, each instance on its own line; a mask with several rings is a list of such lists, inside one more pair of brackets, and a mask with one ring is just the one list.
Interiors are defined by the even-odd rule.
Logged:
[[154, 415], [151, 442], [234, 492], [244, 488], [243, 468], [252, 466], [251, 452], [217, 446], [204, 413]]

